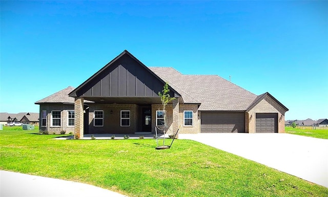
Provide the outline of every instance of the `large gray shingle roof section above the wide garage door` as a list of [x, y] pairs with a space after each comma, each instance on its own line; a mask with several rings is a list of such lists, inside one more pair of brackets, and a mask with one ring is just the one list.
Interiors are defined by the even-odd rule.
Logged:
[[182, 75], [172, 67], [149, 67], [181, 95], [185, 103], [201, 103], [199, 110], [244, 111], [257, 98], [217, 75]]

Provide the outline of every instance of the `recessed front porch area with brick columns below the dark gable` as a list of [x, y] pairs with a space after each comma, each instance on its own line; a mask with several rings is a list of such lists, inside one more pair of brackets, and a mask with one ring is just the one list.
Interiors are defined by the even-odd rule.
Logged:
[[[155, 134], [156, 122], [159, 119], [158, 111], [162, 106], [158, 99], [150, 98], [148, 102], [144, 99], [130, 98], [125, 102], [113, 98], [93, 99], [87, 97], [86, 100], [93, 103], [84, 104], [84, 97], [75, 97], [75, 128], [74, 134], [78, 139], [84, 139], [92, 134], [109, 134], [124, 136], [145, 136], [149, 134], [153, 138]], [[141, 102], [142, 101], [142, 102]], [[134, 103], [134, 104], [130, 104]], [[179, 99], [177, 98], [166, 108], [167, 117], [171, 120], [168, 134], [178, 129], [179, 124]]]

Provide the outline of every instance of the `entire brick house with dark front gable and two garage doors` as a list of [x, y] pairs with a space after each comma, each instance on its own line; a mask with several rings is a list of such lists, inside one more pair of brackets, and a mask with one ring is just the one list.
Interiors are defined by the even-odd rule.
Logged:
[[96, 133], [155, 132], [162, 122], [158, 92], [165, 83], [176, 99], [167, 106], [179, 133], [283, 133], [288, 109], [270, 93], [255, 95], [216, 75], [183, 75], [172, 67], [147, 67], [122, 52], [77, 88], [40, 105], [40, 130]]

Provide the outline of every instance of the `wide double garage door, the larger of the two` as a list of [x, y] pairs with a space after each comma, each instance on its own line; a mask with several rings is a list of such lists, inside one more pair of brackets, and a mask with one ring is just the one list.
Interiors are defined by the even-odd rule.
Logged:
[[201, 112], [201, 133], [244, 133], [243, 112]]

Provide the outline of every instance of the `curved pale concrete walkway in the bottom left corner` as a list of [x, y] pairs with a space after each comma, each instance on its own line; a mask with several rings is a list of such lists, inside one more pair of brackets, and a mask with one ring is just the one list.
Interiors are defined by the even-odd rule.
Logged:
[[89, 184], [0, 170], [0, 196], [113, 196], [125, 195]]

